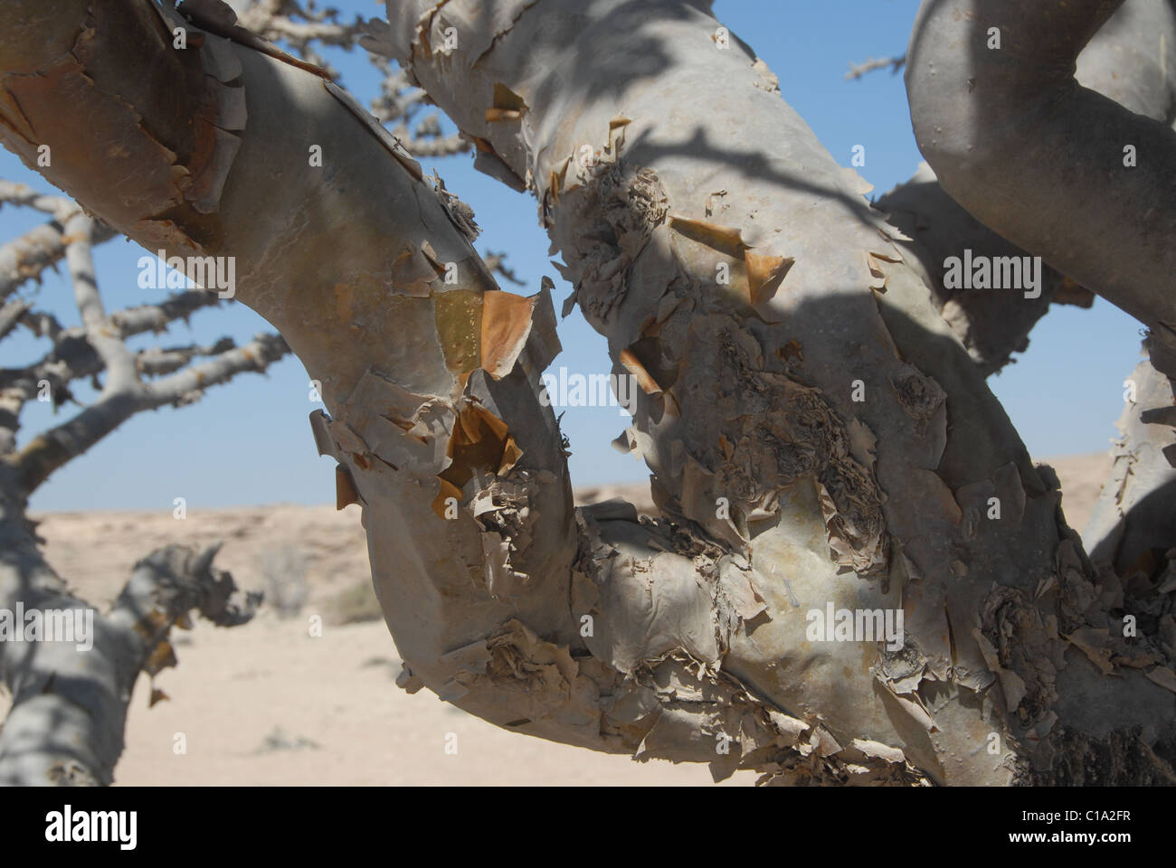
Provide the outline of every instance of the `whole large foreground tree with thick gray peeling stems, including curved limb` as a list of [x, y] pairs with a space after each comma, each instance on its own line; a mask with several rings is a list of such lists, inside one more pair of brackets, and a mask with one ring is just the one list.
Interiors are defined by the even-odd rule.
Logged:
[[[549, 292], [499, 289], [407, 123], [299, 41], [341, 25], [265, 22], [290, 11], [8, 0], [0, 140], [147, 249], [233, 258], [322, 383], [402, 687], [716, 777], [1176, 780], [1170, 4], [926, 0], [929, 168], [877, 207], [706, 0], [348, 26], [396, 62], [389, 105], [420, 88], [460, 131], [417, 138], [534, 194], [566, 309], [640, 386], [621, 445], [656, 520], [573, 507]], [[1083, 546], [985, 375], [1090, 293], [1150, 360]]]

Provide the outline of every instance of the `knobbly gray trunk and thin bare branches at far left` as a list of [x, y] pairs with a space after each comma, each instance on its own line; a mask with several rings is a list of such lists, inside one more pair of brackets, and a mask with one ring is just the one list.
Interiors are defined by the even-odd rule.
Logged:
[[[20, 36], [31, 35], [31, 29], [35, 39], [36, 28], [52, 22], [41, 9], [15, 6], [0, 14], [0, 19], [9, 13], [15, 16], [5, 27], [6, 35], [18, 34], [14, 41], [0, 39], [0, 56], [19, 66], [20, 52], [28, 47]], [[7, 109], [12, 114], [6, 115], [5, 132], [28, 147], [20, 129], [7, 125], [12, 120], [18, 127], [27, 123], [20, 105], [9, 102]], [[173, 546], [140, 561], [111, 612], [98, 613], [39, 553], [39, 540], [24, 513], [27, 498], [51, 473], [129, 415], [198, 400], [208, 387], [241, 372], [263, 370], [289, 348], [280, 336], [268, 334], [243, 347], [225, 339], [208, 347], [133, 353], [125, 342], [128, 336], [165, 330], [174, 320], [216, 305], [216, 295], [186, 292], [107, 314], [91, 248], [113, 238], [113, 229], [95, 223], [68, 199], [2, 180], [0, 201], [52, 218], [0, 247], [0, 293], [15, 292], [64, 259], [82, 322], [79, 328], [62, 328], [31, 300], [12, 300], [0, 308], [0, 338], [24, 325], [53, 342], [44, 359], [0, 370], [0, 677], [12, 694], [12, 708], [0, 729], [0, 784], [109, 783], [138, 675], [154, 676], [175, 665], [167, 641], [171, 627], [188, 625], [192, 609], [221, 626], [243, 623], [258, 599], [236, 599], [232, 577], [212, 568], [215, 548], [195, 553]], [[205, 361], [193, 365], [199, 356]], [[42, 386], [51, 389], [54, 405], [61, 406], [71, 400], [74, 380], [94, 378], [96, 382], [99, 375], [105, 383], [94, 403], [16, 448], [21, 409], [40, 398]], [[62, 629], [69, 641], [61, 641]], [[153, 687], [152, 703], [161, 697]]]

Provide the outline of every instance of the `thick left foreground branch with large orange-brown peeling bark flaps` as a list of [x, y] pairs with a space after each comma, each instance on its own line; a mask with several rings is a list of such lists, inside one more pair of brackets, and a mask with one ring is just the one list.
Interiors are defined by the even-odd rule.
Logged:
[[[35, 39], [0, 6], [0, 61], [13, 33], [46, 46], [24, 72], [69, 82], [39, 94], [31, 126], [0, 108], [5, 142], [27, 159], [49, 139], [42, 171], [148, 249], [232, 258], [236, 299], [321, 383], [333, 419], [316, 416], [319, 443], [342, 463], [340, 502], [363, 505], [381, 605], [412, 672], [495, 722], [517, 720], [502, 697], [462, 697], [469, 661], [450, 652], [512, 617], [562, 647], [579, 628], [564, 453], [539, 400], [559, 346], [549, 298], [497, 292], [461, 208], [314, 72], [165, 26], [145, 1], [94, 0], [88, 18], [56, 5], [39, 19], [53, 32]], [[172, 48], [172, 26], [188, 28], [188, 51]], [[0, 87], [28, 87], [20, 66], [0, 62]], [[52, 121], [81, 112], [92, 123]], [[178, 116], [194, 120], [169, 126]], [[195, 138], [211, 126], [227, 143], [208, 159]]]

